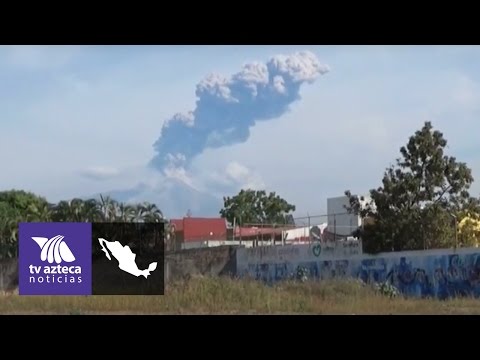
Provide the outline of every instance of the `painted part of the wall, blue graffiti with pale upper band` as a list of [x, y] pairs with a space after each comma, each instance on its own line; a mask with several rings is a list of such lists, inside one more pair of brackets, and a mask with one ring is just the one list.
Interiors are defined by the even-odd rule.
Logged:
[[408, 296], [480, 297], [478, 248], [371, 256], [353, 250], [342, 255], [339, 250], [316, 246], [319, 245], [238, 249], [237, 274], [271, 283], [285, 280], [303, 267], [310, 278], [318, 280], [353, 277], [366, 283], [388, 281]]

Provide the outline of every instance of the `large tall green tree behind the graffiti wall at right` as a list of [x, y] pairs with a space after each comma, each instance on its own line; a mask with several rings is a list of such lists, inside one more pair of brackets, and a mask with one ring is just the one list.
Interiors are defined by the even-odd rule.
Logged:
[[455, 245], [455, 221], [462, 211], [478, 207], [470, 197], [473, 182], [465, 163], [445, 155], [443, 134], [426, 122], [401, 147], [382, 186], [363, 203], [346, 191], [350, 212], [368, 219], [357, 234], [366, 252], [416, 250]]

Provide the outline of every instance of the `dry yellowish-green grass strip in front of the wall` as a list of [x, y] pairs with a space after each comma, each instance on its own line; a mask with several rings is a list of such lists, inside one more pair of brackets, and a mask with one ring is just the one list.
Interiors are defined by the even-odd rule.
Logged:
[[283, 283], [193, 278], [165, 296], [0, 295], [0, 314], [480, 314], [480, 300], [390, 299], [353, 281]]

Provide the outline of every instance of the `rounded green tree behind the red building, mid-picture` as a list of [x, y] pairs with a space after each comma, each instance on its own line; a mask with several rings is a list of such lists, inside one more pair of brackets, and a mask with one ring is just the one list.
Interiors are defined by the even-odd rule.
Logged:
[[295, 205], [289, 204], [275, 192], [241, 190], [233, 197], [223, 198], [220, 215], [230, 223], [236, 219], [243, 224], [285, 224], [289, 213], [295, 211]]

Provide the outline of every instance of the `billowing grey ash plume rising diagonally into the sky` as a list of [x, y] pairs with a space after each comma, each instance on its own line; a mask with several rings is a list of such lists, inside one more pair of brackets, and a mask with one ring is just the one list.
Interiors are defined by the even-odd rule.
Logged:
[[230, 78], [212, 74], [196, 89], [195, 110], [175, 114], [155, 142], [151, 163], [159, 170], [183, 167], [207, 148], [247, 141], [256, 121], [271, 120], [300, 99], [300, 87], [329, 71], [315, 54], [278, 55], [251, 63]]

